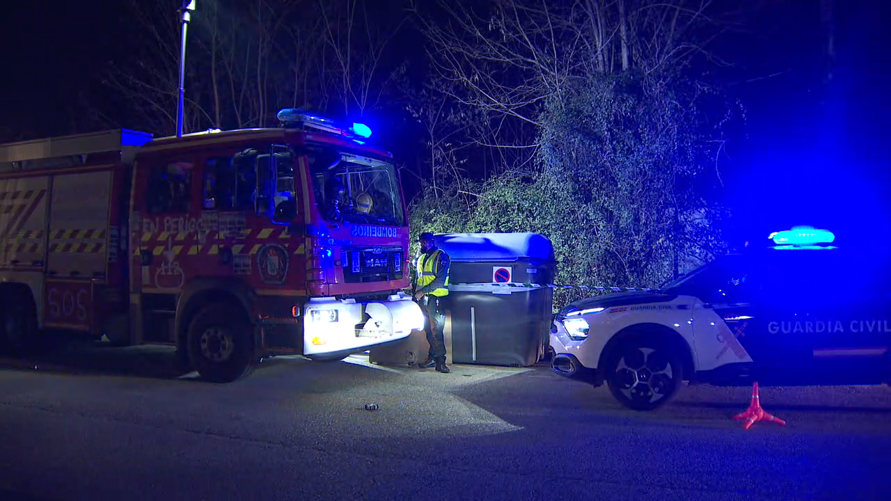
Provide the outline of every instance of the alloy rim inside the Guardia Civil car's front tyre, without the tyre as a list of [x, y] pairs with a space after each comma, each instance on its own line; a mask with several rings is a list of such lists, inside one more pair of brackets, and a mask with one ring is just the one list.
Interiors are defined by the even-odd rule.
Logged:
[[668, 397], [675, 385], [668, 357], [651, 348], [623, 350], [613, 377], [619, 393], [642, 404], [655, 404]]

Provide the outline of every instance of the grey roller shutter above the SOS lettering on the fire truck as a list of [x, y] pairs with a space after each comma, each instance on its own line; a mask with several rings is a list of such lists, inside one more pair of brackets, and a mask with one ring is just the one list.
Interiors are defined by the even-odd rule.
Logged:
[[53, 177], [46, 267], [50, 275], [105, 278], [110, 185], [110, 170]]

